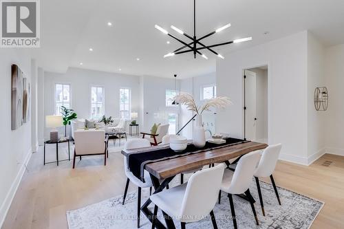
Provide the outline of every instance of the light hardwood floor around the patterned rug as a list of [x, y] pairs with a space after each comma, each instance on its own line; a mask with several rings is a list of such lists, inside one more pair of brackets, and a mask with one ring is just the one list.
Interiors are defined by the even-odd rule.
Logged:
[[[47, 148], [48, 160], [54, 160], [54, 146]], [[323, 166], [325, 161], [332, 164]], [[312, 228], [344, 228], [344, 157], [323, 155], [311, 166], [279, 162], [274, 176], [277, 186], [325, 202]], [[109, 154], [107, 166], [103, 157], [94, 156], [77, 160], [72, 169], [72, 161], [43, 166], [40, 147], [32, 155], [2, 228], [67, 228], [67, 210], [122, 195], [125, 181], [119, 151]]]

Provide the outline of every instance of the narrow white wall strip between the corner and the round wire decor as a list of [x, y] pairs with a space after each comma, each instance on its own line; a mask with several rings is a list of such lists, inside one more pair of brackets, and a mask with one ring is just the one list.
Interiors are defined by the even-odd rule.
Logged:
[[325, 153], [325, 116], [327, 111], [314, 108], [314, 89], [325, 86], [325, 49], [308, 32], [308, 164]]

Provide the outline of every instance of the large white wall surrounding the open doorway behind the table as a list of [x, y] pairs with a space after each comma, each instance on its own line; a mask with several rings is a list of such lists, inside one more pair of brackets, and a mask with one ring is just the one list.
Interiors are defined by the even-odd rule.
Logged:
[[242, 70], [268, 65], [268, 143], [281, 142], [281, 159], [308, 163], [307, 139], [308, 32], [229, 53], [217, 61], [217, 95], [233, 105], [217, 114], [218, 132], [243, 137]]

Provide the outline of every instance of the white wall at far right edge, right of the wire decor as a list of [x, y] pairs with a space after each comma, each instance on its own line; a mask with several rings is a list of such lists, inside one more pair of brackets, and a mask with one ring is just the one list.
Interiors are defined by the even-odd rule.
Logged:
[[325, 75], [329, 105], [325, 117], [328, 153], [344, 155], [344, 44], [325, 50]]

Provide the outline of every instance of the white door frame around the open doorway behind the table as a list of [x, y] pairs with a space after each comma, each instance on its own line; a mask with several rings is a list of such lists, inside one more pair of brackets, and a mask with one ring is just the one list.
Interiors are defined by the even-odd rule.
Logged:
[[245, 71], [246, 70], [248, 70], [248, 69], [251, 69], [251, 68], [255, 68], [255, 67], [262, 67], [262, 66], [268, 66], [268, 91], [267, 91], [267, 94], [268, 94], [268, 112], [267, 112], [267, 115], [268, 115], [268, 117], [267, 117], [267, 120], [268, 120], [268, 122], [266, 123], [267, 125], [268, 125], [268, 142], [270, 141], [270, 133], [271, 133], [271, 131], [270, 131], [270, 127], [271, 127], [271, 125], [270, 125], [270, 118], [269, 117], [271, 117], [271, 113], [270, 113], [270, 102], [271, 102], [271, 100], [270, 100], [270, 94], [271, 94], [271, 88], [270, 88], [270, 85], [271, 85], [271, 77], [270, 77], [270, 63], [261, 63], [261, 64], [258, 64], [258, 65], [252, 65], [252, 66], [248, 66], [248, 67], [243, 67], [242, 68], [242, 71], [241, 71], [241, 78], [242, 78], [242, 91], [243, 91], [243, 93], [242, 93], [242, 97], [241, 98], [243, 98], [243, 100], [242, 100], [242, 107], [243, 107], [243, 109], [242, 109], [242, 111], [243, 111], [243, 122], [242, 122], [242, 124], [243, 124], [243, 129], [244, 129], [244, 131], [242, 132], [242, 133], [244, 133], [244, 140], [246, 140], [246, 80], [245, 80]]

